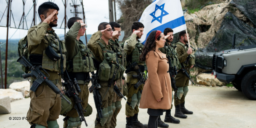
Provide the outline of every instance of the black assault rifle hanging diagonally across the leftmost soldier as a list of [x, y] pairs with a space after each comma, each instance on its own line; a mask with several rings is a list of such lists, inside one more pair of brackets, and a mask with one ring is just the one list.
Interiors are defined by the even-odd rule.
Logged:
[[[20, 56], [19, 59], [17, 60], [21, 65], [24, 65], [25, 67], [29, 67], [30, 73], [27, 74], [22, 74], [23, 78], [26, 79], [27, 77], [33, 77], [35, 78], [35, 81], [33, 82], [30, 90], [31, 91], [36, 91], [38, 86], [45, 82], [56, 94], [59, 94], [60, 97], [62, 97], [63, 93], [59, 90], [59, 88], [50, 80], [48, 80], [48, 77], [50, 76], [43, 68], [42, 66], [33, 66], [32, 63], [30, 63], [24, 55]], [[48, 74], [48, 77], [40, 70], [43, 70], [45, 73]], [[69, 104], [71, 104], [68, 99], [65, 97], [62, 97], [65, 99]]]

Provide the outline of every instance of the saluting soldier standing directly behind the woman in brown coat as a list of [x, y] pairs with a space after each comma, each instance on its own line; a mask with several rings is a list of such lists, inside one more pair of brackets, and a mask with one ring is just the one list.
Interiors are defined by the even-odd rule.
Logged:
[[[163, 34], [165, 36], [166, 42], [165, 42], [165, 46], [162, 47], [162, 48], [159, 48], [159, 50], [162, 53], [166, 54], [167, 57], [170, 56], [171, 62], [169, 62], [169, 65], [171, 65], [174, 70], [179, 70], [179, 69], [181, 69], [181, 64], [180, 64], [179, 59], [177, 57], [178, 54], [177, 54], [176, 50], [174, 49], [173, 45], [171, 44], [172, 41], [173, 41], [173, 30], [171, 28], [166, 28], [163, 31]], [[175, 69], [175, 67], [176, 67], [176, 69]], [[172, 94], [172, 102], [173, 102], [173, 94]], [[172, 105], [171, 105], [171, 109], [172, 109]], [[164, 121], [169, 122], [169, 123], [179, 124], [180, 120], [175, 119], [174, 117], [171, 116], [171, 109], [166, 110]], [[158, 118], [158, 127], [167, 128], [167, 127], [169, 127], [169, 125], [163, 123], [162, 120], [160, 119], [160, 116], [159, 116], [159, 118]]]

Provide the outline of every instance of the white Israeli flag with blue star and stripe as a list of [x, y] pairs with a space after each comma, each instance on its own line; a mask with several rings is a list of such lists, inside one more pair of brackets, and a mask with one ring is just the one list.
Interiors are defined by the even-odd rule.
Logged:
[[144, 10], [139, 22], [144, 25], [142, 44], [154, 30], [163, 32], [171, 28], [175, 34], [187, 29], [180, 0], [155, 0]]

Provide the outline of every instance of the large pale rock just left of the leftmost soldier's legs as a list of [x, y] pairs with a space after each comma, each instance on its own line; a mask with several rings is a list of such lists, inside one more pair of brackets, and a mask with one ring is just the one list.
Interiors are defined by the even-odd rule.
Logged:
[[9, 88], [22, 92], [24, 97], [29, 97], [29, 89], [30, 89], [29, 81], [14, 82], [10, 84]]

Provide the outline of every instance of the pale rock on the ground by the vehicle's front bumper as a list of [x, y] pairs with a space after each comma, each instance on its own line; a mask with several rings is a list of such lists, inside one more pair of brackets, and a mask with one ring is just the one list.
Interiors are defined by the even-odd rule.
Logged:
[[226, 85], [223, 82], [220, 82], [218, 79], [214, 78], [214, 75], [201, 73], [196, 76], [197, 77], [197, 84], [206, 85], [206, 86], [224, 86]]

